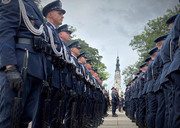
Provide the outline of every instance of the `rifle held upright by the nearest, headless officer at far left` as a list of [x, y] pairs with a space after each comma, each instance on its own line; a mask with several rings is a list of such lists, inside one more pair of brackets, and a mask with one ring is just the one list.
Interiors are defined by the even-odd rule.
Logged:
[[[24, 83], [27, 77], [27, 68], [28, 68], [28, 59], [29, 59], [29, 52], [27, 49], [25, 50], [26, 52], [24, 54], [23, 68], [21, 70], [21, 76]], [[17, 97], [14, 97], [14, 104], [12, 108], [11, 128], [20, 128], [20, 120], [21, 120], [21, 115], [22, 115], [22, 110], [23, 110], [21, 93], [22, 93], [22, 90], [18, 90]]]

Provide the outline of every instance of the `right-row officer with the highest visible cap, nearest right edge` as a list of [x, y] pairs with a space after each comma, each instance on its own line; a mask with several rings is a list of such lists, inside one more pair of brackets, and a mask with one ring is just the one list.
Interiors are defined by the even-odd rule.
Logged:
[[[176, 15], [170, 17], [167, 21], [166, 24], [169, 26], [169, 29], [171, 30], [174, 24], [174, 20], [176, 18]], [[172, 47], [170, 44], [171, 42], [172, 34], [170, 33], [166, 40], [164, 41], [162, 48], [160, 50], [160, 55], [161, 59], [163, 61], [163, 70], [160, 78], [160, 84], [162, 85], [164, 89], [164, 96], [165, 96], [165, 103], [166, 103], [166, 111], [165, 111], [165, 128], [171, 128], [172, 124], [172, 117], [170, 117], [170, 111], [172, 111], [172, 84], [169, 82], [165, 76], [167, 75], [168, 69], [171, 65], [172, 61], [172, 54], [171, 50]]]

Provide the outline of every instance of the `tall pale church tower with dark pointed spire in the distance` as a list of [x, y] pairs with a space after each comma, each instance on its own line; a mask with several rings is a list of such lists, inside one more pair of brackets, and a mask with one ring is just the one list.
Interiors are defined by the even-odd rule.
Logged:
[[116, 70], [114, 75], [114, 87], [117, 88], [119, 96], [121, 96], [121, 70], [120, 70], [120, 64], [119, 64], [119, 56], [116, 60]]

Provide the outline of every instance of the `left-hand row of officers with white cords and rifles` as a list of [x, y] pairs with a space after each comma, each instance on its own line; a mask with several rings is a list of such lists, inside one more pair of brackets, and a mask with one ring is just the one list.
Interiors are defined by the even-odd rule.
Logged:
[[42, 12], [36, 2], [0, 1], [0, 128], [98, 127], [109, 99], [102, 78], [79, 42], [67, 45], [61, 1]]

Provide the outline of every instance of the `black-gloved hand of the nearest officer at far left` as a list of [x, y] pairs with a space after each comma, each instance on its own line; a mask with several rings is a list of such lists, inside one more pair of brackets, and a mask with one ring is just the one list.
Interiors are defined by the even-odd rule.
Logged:
[[16, 91], [23, 90], [23, 80], [21, 74], [17, 71], [15, 66], [7, 68], [5, 70], [7, 80], [10, 83], [11, 89]]

